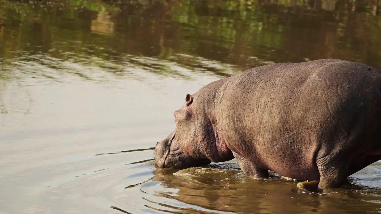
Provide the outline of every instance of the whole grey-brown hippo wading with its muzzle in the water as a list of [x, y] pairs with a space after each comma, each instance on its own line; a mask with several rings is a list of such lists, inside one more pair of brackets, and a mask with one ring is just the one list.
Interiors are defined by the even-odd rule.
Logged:
[[158, 168], [235, 158], [249, 177], [339, 188], [381, 160], [381, 71], [339, 59], [263, 65], [186, 94], [173, 116]]

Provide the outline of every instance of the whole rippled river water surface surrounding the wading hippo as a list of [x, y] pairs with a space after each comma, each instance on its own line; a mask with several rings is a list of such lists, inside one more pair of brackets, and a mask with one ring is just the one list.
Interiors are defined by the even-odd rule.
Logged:
[[235, 160], [154, 166], [187, 93], [259, 65], [381, 68], [381, 4], [0, 1], [0, 214], [381, 213], [381, 163], [329, 194]]

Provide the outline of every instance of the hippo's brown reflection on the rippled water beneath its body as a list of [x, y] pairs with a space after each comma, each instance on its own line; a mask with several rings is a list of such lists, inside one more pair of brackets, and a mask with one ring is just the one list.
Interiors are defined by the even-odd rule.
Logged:
[[[234, 168], [234, 169], [229, 169]], [[374, 200], [366, 188], [357, 191], [339, 191], [329, 195], [306, 193], [295, 188], [293, 182], [279, 178], [245, 178], [237, 166], [196, 172], [192, 177], [175, 176], [165, 171], [154, 171], [156, 180], [166, 188], [176, 188], [175, 195], [157, 193], [174, 203], [186, 203], [203, 208], [235, 213], [343, 213], [345, 204], [351, 213], [363, 213], [369, 208], [381, 211], [381, 204], [356, 203], [352, 200]], [[189, 173], [189, 172], [188, 172]], [[173, 194], [173, 193], [172, 193]], [[177, 201], [177, 202], [176, 202]], [[276, 203], [274, 203], [276, 201]], [[234, 204], [234, 206], [231, 206]]]

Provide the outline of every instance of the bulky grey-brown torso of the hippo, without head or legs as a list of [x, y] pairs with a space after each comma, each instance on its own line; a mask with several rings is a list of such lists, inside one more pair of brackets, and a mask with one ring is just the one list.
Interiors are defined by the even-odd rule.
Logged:
[[232, 151], [273, 171], [307, 171], [316, 167], [318, 152], [355, 147], [348, 142], [359, 137], [381, 139], [380, 89], [380, 70], [365, 64], [322, 59], [265, 65], [221, 86], [216, 115]]

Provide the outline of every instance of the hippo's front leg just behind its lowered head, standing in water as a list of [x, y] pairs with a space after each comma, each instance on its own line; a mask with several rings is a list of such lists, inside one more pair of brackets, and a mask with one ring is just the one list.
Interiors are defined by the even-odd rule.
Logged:
[[237, 160], [239, 167], [242, 169], [248, 177], [263, 178], [270, 177], [269, 171], [267, 169], [261, 169], [258, 166], [255, 166], [253, 163], [243, 158], [238, 153], [233, 152], [235, 160]]

